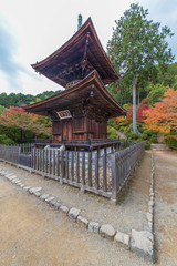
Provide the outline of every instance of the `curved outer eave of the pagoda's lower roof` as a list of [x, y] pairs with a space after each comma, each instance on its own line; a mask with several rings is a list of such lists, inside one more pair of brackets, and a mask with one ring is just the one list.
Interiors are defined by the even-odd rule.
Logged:
[[[58, 104], [58, 109], [60, 109], [60, 106], [63, 104], [63, 101], [66, 98], [74, 95], [75, 99], [80, 99], [80, 93], [82, 92], [82, 90], [84, 90], [88, 85], [93, 85], [93, 84], [95, 85], [95, 89], [100, 91], [103, 99], [105, 99], [106, 102], [110, 104], [110, 109], [113, 110], [113, 113], [115, 114], [117, 112], [117, 114], [115, 116], [126, 114], [126, 110], [123, 109], [111, 96], [111, 94], [107, 92], [107, 90], [104, 88], [104, 85], [95, 70], [92, 73], [90, 73], [84, 80], [82, 80], [77, 84], [73, 85], [69, 90], [60, 92], [56, 95], [44, 99], [40, 102], [30, 104], [30, 105], [25, 106], [24, 110], [27, 112], [32, 112], [35, 114], [49, 115], [48, 111], [52, 110], [52, 108], [56, 106], [56, 104]], [[49, 108], [49, 105], [50, 105], [50, 108]]]

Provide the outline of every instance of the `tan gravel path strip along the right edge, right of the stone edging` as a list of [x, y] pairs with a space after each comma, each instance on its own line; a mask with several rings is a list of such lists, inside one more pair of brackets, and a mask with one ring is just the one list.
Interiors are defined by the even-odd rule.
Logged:
[[157, 265], [177, 265], [177, 152], [156, 151], [155, 239]]

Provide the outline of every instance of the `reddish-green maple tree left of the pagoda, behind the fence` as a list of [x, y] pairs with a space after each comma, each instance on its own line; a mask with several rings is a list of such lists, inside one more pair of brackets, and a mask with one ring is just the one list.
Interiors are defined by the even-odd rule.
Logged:
[[10, 106], [0, 115], [0, 124], [30, 130], [37, 135], [51, 135], [51, 121], [49, 117], [24, 112], [22, 108]]

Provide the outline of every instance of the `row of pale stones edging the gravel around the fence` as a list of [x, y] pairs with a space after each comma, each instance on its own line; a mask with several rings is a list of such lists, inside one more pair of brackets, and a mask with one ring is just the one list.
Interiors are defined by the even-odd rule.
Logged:
[[77, 223], [80, 226], [88, 229], [88, 232], [97, 233], [103, 238], [114, 241], [124, 248], [135, 252], [143, 257], [150, 258], [154, 263], [154, 156], [152, 153], [152, 173], [150, 173], [150, 188], [149, 188], [149, 201], [148, 201], [148, 212], [147, 216], [147, 228], [145, 231], [132, 229], [132, 234], [127, 235], [122, 232], [115, 231], [111, 224], [100, 225], [96, 222], [88, 221], [81, 216], [81, 211], [76, 207], [69, 208], [62, 205], [60, 202], [55, 201], [53, 195], [42, 193], [42, 187], [25, 186], [21, 180], [19, 180], [13, 173], [3, 171], [0, 168], [0, 175], [8, 178], [11, 183], [17, 184], [23, 191], [33, 194], [41, 201], [48, 203], [50, 206], [55, 207], [58, 211], [69, 216], [71, 221]]

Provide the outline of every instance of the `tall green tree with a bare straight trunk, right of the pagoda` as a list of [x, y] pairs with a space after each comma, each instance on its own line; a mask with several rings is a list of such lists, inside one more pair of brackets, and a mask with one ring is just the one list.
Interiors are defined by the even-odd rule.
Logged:
[[152, 71], [158, 63], [159, 69], [166, 70], [165, 64], [174, 60], [168, 49], [166, 37], [173, 37], [168, 27], [160, 30], [160, 23], [147, 20], [148, 10], [138, 3], [131, 4], [124, 17], [116, 22], [113, 37], [107, 43], [107, 52], [117, 72], [124, 76], [129, 73], [133, 84], [133, 130], [136, 125], [136, 84], [140, 72]]

